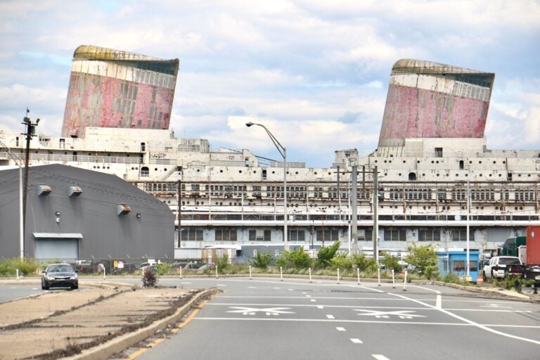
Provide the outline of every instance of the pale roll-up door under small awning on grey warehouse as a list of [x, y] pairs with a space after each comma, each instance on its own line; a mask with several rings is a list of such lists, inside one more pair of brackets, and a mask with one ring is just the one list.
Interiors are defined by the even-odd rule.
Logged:
[[79, 240], [77, 233], [34, 233], [36, 259], [78, 259]]

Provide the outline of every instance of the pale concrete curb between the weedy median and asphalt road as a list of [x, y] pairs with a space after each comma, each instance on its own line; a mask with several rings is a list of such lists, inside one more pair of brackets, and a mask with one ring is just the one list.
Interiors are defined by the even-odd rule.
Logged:
[[128, 347], [131, 347], [135, 345], [138, 342], [141, 342], [147, 338], [150, 338], [155, 333], [158, 332], [158, 330], [163, 330], [167, 328], [172, 323], [179, 322], [184, 315], [188, 313], [188, 311], [191, 309], [193, 304], [195, 302], [200, 301], [204, 297], [214, 295], [218, 293], [219, 290], [217, 289], [207, 289], [202, 291], [201, 293], [198, 293], [193, 297], [187, 304], [185, 304], [180, 309], [176, 310], [176, 312], [165, 318], [158, 321], [155, 321], [150, 326], [147, 326], [146, 328], [141, 328], [139, 330], [136, 330], [134, 333], [127, 333], [122, 336], [119, 336], [118, 338], [114, 338], [108, 342], [105, 342], [102, 345], [99, 345], [98, 347], [92, 347], [91, 349], [85, 349], [82, 351], [81, 354], [77, 354], [75, 356], [66, 357], [64, 359], [70, 359], [70, 360], [107, 360], [113, 354], [117, 354], [118, 352], [123, 352]]

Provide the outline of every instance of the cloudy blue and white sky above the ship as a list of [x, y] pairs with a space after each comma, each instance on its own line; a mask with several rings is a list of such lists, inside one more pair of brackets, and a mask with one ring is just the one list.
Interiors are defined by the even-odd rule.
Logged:
[[212, 149], [369, 153], [401, 58], [494, 72], [488, 148], [540, 148], [540, 0], [0, 0], [0, 131], [60, 136], [79, 45], [179, 58], [171, 129]]

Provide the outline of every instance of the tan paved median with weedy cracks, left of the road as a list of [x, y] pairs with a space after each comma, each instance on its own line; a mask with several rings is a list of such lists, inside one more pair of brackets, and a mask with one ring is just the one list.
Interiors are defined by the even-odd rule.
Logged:
[[[152, 335], [155, 330], [142, 330], [174, 317], [179, 309], [185, 314], [201, 295], [213, 293], [184, 288], [85, 287], [5, 302], [0, 304], [0, 360], [84, 358], [85, 353], [88, 359], [107, 359], [143, 340], [131, 341], [131, 334]], [[181, 316], [172, 320], [180, 321]], [[115, 340], [120, 338], [124, 340], [119, 346]], [[113, 342], [115, 347], [109, 349]]]

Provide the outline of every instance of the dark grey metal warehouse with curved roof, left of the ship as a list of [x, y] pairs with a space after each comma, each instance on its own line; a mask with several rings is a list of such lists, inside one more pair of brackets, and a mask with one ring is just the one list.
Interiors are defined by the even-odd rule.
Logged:
[[[0, 171], [0, 257], [19, 257], [20, 170]], [[117, 176], [65, 165], [30, 167], [24, 256], [174, 259], [174, 214]]]

